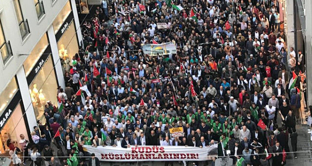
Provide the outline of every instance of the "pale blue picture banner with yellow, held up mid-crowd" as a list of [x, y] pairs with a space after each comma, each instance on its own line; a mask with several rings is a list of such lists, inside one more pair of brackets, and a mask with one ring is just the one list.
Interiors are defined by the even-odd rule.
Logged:
[[166, 42], [163, 44], [142, 44], [144, 54], [149, 56], [176, 54], [176, 44]]

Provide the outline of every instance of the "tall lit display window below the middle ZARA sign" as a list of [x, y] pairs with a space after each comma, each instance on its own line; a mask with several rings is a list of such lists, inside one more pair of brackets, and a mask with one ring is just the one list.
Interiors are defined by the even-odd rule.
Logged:
[[34, 81], [29, 86], [31, 100], [34, 106], [37, 120], [44, 124], [44, 108], [45, 104], [50, 101], [57, 104], [57, 88], [58, 83], [55, 77], [53, 61], [51, 56], [43, 64]]

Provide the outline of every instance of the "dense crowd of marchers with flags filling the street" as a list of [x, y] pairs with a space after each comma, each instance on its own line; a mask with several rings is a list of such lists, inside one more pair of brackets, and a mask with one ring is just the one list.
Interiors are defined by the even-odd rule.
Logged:
[[[47, 104], [46, 123], [38, 122], [31, 140], [20, 136], [20, 150], [34, 165], [99, 166], [82, 145], [218, 144], [218, 157], [230, 150], [243, 166], [285, 165], [283, 150], [296, 151], [305, 61], [300, 50], [286, 51], [279, 5], [103, 0], [80, 27], [85, 49], [72, 59], [66, 88], [58, 89], [63, 109]], [[167, 28], [158, 29], [160, 22]], [[142, 50], [166, 42], [176, 44], [176, 54]], [[171, 137], [175, 127], [183, 127], [184, 137]], [[266, 152], [271, 159], [259, 155]]]

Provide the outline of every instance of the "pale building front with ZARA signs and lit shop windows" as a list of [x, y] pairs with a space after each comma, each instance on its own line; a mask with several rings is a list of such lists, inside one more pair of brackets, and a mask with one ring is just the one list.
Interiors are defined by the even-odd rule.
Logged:
[[0, 1], [0, 151], [31, 139], [82, 46], [75, 0]]

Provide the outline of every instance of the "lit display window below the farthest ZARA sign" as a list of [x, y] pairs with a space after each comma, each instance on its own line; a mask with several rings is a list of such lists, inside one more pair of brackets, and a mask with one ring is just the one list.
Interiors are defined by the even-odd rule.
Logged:
[[69, 67], [72, 65], [72, 59], [79, 51], [74, 21], [71, 21], [67, 30], [59, 39], [58, 48], [63, 70], [69, 71]]

